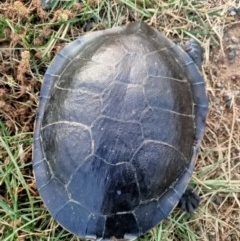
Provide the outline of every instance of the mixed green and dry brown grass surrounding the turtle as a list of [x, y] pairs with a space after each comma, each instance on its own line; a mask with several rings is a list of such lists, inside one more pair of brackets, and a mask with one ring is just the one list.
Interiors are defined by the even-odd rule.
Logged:
[[[226, 49], [223, 34], [227, 27], [239, 22], [237, 16], [229, 15], [233, 3], [76, 2], [56, 2], [56, 8], [49, 11], [43, 11], [37, 0], [0, 3], [0, 239], [79, 240], [51, 218], [35, 186], [31, 145], [41, 80], [55, 54], [84, 34], [86, 22], [92, 27], [90, 31], [96, 31], [126, 24], [131, 14], [179, 44], [190, 37], [202, 44], [203, 75], [210, 101], [202, 150], [191, 180], [202, 197], [200, 208], [191, 217], [175, 210], [139, 240], [239, 240], [239, 96], [236, 94], [230, 108], [224, 102], [224, 91], [238, 89], [239, 83], [234, 86], [228, 80], [225, 89], [219, 88], [224, 72], [215, 61]], [[215, 76], [216, 71], [220, 77]]]

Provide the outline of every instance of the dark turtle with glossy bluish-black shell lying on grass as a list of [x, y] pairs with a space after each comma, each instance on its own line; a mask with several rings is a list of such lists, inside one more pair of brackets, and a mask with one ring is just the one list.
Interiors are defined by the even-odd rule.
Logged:
[[64, 47], [40, 90], [33, 143], [37, 189], [52, 217], [86, 239], [133, 240], [180, 205], [208, 112], [201, 47], [143, 21]]

